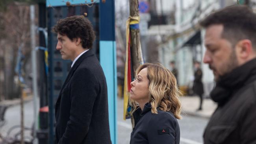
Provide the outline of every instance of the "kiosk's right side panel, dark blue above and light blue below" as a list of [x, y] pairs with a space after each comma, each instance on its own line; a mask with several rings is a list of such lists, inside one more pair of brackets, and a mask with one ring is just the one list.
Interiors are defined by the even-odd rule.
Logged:
[[99, 7], [100, 64], [108, 84], [109, 126], [111, 141], [117, 144], [117, 66], [115, 48], [115, 2], [100, 0]]

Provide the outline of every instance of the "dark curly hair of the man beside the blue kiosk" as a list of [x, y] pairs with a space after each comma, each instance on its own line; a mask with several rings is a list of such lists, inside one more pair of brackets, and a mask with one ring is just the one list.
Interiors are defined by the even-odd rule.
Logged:
[[60, 19], [52, 28], [54, 33], [66, 35], [71, 41], [80, 38], [83, 48], [91, 49], [95, 40], [95, 33], [91, 22], [84, 16], [72, 16]]

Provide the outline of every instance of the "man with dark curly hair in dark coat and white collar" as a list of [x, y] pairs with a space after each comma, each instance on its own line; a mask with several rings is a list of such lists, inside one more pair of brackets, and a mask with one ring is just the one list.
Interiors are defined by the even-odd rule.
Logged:
[[108, 92], [102, 67], [91, 50], [95, 33], [83, 16], [54, 26], [62, 59], [72, 61], [55, 106], [58, 144], [111, 144]]

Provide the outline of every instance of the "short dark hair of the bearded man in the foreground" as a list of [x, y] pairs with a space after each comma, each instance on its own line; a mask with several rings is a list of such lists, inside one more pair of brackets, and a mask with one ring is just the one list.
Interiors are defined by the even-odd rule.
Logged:
[[223, 24], [222, 37], [234, 46], [242, 39], [249, 39], [256, 44], [256, 14], [243, 5], [229, 6], [214, 13], [200, 22], [204, 28], [213, 24]]

